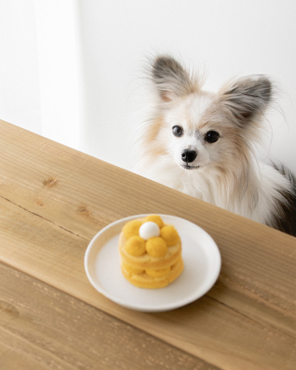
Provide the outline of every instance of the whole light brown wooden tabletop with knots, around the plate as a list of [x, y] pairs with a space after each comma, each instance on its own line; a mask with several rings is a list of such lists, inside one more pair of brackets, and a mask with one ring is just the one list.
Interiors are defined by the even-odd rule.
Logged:
[[[145, 313], [91, 286], [90, 239], [143, 213], [217, 242], [205, 296]], [[1, 370], [295, 370], [295, 262], [292, 236], [0, 121]]]

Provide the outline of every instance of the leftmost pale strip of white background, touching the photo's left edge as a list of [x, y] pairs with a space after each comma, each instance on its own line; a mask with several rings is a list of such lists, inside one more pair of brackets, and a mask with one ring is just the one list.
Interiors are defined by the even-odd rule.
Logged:
[[41, 134], [33, 0], [0, 1], [0, 118]]

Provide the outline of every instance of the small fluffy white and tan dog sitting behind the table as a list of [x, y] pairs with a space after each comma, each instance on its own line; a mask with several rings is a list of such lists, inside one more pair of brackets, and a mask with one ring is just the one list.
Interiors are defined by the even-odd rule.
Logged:
[[265, 75], [202, 90], [201, 78], [175, 59], [149, 67], [155, 96], [140, 127], [136, 172], [238, 215], [296, 235], [296, 179], [255, 158], [273, 97]]

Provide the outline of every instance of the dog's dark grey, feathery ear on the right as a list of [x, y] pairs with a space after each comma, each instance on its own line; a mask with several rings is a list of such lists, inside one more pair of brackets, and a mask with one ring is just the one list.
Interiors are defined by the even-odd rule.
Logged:
[[[272, 99], [272, 83], [265, 75], [241, 77], [221, 91], [222, 101], [238, 123], [263, 114]], [[241, 121], [241, 122], [240, 122]]]

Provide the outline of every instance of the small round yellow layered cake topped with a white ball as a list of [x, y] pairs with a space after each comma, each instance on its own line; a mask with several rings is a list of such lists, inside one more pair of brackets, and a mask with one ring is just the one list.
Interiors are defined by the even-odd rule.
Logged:
[[183, 271], [181, 239], [160, 216], [127, 222], [119, 237], [121, 271], [140, 288], [163, 288]]

